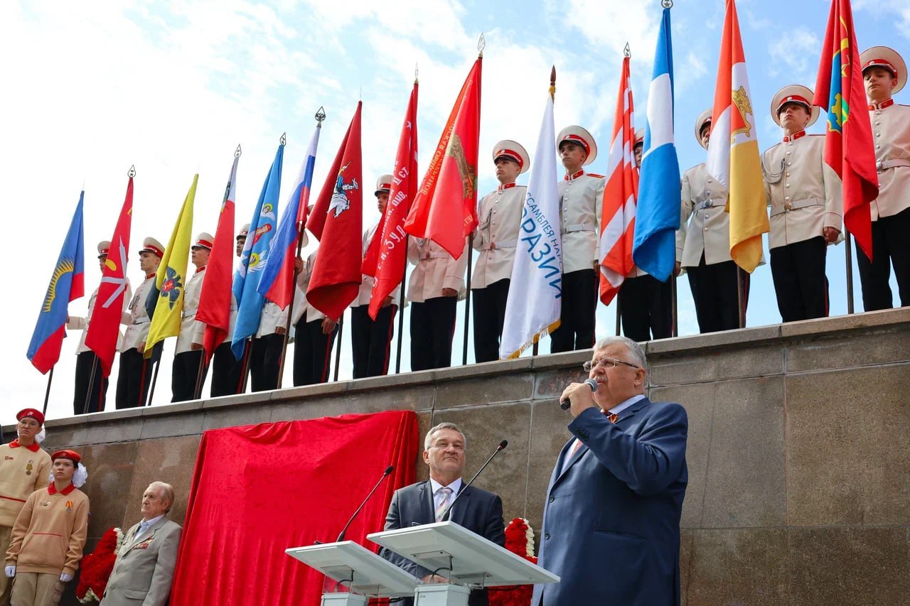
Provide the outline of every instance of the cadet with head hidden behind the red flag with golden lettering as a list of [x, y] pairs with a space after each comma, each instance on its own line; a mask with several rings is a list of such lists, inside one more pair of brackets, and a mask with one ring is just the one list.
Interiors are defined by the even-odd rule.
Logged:
[[410, 237], [408, 260], [417, 266], [408, 281], [410, 369], [450, 367], [456, 306], [465, 294], [468, 238], [460, 258], [455, 259], [430, 239]]

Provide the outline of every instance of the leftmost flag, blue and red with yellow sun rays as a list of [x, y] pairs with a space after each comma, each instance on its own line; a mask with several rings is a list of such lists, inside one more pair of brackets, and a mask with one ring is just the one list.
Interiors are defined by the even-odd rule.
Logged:
[[85, 195], [84, 191], [79, 194], [76, 213], [66, 232], [66, 240], [35, 323], [32, 341], [28, 344], [28, 359], [41, 374], [54, 368], [60, 359], [60, 348], [66, 336], [66, 308], [69, 302], [86, 294], [82, 235], [82, 200]]

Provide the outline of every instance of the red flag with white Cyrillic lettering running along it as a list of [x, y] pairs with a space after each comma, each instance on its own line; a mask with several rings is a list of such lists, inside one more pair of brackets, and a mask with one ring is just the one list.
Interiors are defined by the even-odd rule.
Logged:
[[382, 301], [389, 296], [404, 278], [408, 262], [408, 235], [404, 222], [411, 202], [417, 193], [417, 82], [410, 92], [408, 112], [401, 125], [395, 169], [392, 170], [392, 187], [389, 204], [381, 219], [381, 229], [373, 234], [367, 254], [363, 258], [363, 273], [375, 276], [373, 293], [369, 298], [369, 317], [376, 319]]

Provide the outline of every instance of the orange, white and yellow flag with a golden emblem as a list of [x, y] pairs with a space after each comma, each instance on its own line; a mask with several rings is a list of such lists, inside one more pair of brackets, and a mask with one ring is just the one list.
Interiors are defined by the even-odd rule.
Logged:
[[762, 164], [743, 40], [734, 0], [727, 0], [721, 60], [717, 67], [708, 173], [730, 189], [730, 256], [752, 273], [762, 258], [762, 234], [768, 232]]

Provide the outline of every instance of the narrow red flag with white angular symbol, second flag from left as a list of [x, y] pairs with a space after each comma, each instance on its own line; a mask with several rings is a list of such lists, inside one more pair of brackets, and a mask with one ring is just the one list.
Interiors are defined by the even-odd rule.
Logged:
[[[132, 171], [131, 171], [132, 174]], [[101, 362], [101, 374], [111, 374], [116, 354], [116, 341], [120, 336], [120, 319], [123, 317], [123, 299], [126, 297], [126, 258], [129, 250], [129, 230], [133, 222], [133, 177], [126, 185], [126, 198], [120, 209], [111, 237], [105, 268], [101, 273], [101, 286], [95, 299], [92, 321], [88, 323], [86, 347], [95, 352]]]

